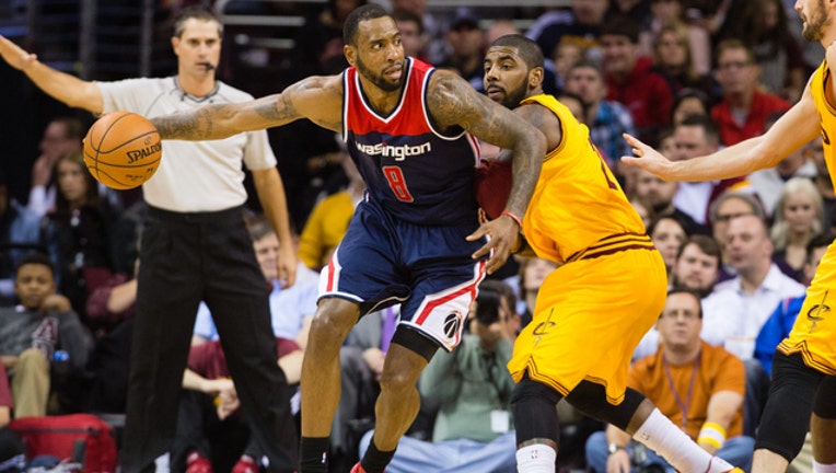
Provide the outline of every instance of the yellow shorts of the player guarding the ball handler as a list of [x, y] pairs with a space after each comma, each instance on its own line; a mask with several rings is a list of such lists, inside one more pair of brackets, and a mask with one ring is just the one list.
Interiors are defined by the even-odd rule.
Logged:
[[667, 276], [655, 250], [627, 250], [555, 269], [541, 286], [532, 322], [508, 369], [566, 396], [582, 380], [624, 400], [632, 351], [662, 313]]

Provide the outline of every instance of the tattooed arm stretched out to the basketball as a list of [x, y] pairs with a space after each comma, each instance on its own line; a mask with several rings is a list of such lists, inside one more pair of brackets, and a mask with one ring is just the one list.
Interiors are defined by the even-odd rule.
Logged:
[[300, 118], [341, 131], [341, 76], [310, 77], [280, 94], [234, 104], [207, 105], [151, 119], [163, 139], [187, 141], [227, 138], [289, 124]]

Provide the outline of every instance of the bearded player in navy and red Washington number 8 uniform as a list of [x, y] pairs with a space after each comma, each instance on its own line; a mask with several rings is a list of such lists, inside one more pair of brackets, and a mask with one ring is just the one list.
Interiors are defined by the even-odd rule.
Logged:
[[[383, 471], [418, 413], [421, 370], [439, 347], [456, 346], [477, 285], [520, 245], [520, 216], [546, 151], [539, 130], [513, 112], [460, 77], [405, 57], [397, 26], [381, 7], [355, 10], [344, 38], [350, 67], [340, 74], [303, 79], [249, 103], [153, 120], [164, 139], [206, 140], [309, 118], [341, 134], [367, 183], [365, 198], [322, 273], [302, 368], [304, 473], [328, 468], [342, 341], [360, 316], [400, 303], [380, 379], [374, 437], [352, 470]], [[472, 188], [475, 138], [514, 157], [506, 210], [481, 227]], [[489, 259], [479, 257], [488, 250]]]

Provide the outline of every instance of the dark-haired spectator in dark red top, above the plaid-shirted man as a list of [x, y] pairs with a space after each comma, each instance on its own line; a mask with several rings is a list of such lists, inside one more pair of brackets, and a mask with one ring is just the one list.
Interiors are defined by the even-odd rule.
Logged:
[[609, 101], [630, 111], [640, 137], [655, 142], [669, 125], [673, 92], [667, 81], [652, 70], [652, 61], [638, 56], [639, 28], [632, 21], [615, 18], [604, 25], [601, 45]]

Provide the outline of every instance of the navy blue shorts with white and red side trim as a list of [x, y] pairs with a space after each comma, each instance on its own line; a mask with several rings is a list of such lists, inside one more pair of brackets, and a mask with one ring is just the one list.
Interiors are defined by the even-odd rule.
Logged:
[[452, 350], [461, 337], [486, 258], [471, 255], [486, 240], [468, 242], [478, 228], [428, 227], [393, 220], [363, 200], [320, 276], [320, 297], [360, 304], [365, 314], [400, 303], [400, 324]]

